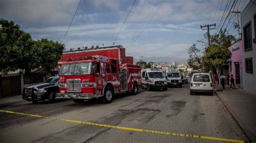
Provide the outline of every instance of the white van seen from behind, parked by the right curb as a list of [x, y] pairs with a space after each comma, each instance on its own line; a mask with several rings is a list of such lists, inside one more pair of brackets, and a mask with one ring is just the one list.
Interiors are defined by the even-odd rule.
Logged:
[[193, 95], [194, 92], [208, 92], [213, 95], [212, 78], [210, 74], [193, 74], [190, 81], [190, 95]]

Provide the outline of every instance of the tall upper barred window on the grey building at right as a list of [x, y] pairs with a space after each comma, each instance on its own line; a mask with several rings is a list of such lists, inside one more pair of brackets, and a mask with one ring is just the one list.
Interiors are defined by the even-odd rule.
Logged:
[[251, 21], [244, 26], [245, 52], [252, 50], [252, 27]]

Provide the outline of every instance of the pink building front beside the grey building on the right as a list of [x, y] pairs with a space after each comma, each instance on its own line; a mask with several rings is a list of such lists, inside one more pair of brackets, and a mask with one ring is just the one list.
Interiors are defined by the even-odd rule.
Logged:
[[242, 40], [235, 42], [232, 46], [228, 47], [232, 53], [230, 59], [230, 75], [233, 74], [235, 79], [235, 86], [238, 88], [243, 88], [244, 85], [244, 62], [242, 53]]

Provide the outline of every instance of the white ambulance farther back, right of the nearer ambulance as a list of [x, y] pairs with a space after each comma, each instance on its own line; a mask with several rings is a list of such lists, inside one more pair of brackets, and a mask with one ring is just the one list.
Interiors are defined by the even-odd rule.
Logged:
[[168, 87], [180, 87], [182, 88], [182, 80], [179, 70], [167, 70], [165, 73]]

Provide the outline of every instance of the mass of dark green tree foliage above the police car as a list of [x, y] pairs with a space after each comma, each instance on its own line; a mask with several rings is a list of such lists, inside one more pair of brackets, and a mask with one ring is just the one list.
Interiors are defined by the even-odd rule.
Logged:
[[46, 69], [57, 65], [64, 45], [48, 39], [33, 41], [30, 34], [12, 21], [0, 19], [0, 71]]

